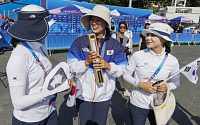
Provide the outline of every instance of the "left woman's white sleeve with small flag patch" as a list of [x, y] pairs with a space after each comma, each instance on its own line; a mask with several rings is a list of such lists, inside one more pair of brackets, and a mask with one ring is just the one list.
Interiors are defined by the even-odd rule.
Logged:
[[40, 91], [37, 94], [25, 94], [29, 73], [27, 65], [23, 58], [15, 56], [9, 59], [6, 67], [11, 100], [15, 109], [25, 109], [46, 99]]

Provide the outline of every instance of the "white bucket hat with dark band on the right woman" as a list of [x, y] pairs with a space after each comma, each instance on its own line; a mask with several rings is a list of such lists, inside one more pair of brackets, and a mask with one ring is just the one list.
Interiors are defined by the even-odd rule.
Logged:
[[149, 29], [142, 30], [142, 35], [147, 36], [147, 33], [153, 33], [161, 38], [172, 41], [169, 37], [171, 34], [171, 27], [165, 23], [153, 23], [149, 26]]

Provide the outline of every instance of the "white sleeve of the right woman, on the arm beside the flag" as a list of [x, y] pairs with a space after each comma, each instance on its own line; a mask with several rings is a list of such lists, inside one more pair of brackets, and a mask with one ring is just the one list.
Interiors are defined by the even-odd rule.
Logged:
[[[173, 67], [172, 72], [169, 74], [169, 77], [177, 73], [178, 71], [179, 71], [179, 63], [177, 60], [176, 64]], [[180, 73], [171, 78], [168, 84], [170, 86], [170, 90], [177, 89], [180, 86]]]

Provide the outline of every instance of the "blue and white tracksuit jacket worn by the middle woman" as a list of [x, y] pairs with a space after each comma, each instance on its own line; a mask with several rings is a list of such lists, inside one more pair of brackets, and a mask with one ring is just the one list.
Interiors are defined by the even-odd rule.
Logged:
[[[93, 64], [86, 67], [84, 63], [90, 52], [87, 36], [77, 38], [68, 51], [67, 63], [70, 66], [70, 71], [76, 72], [82, 84], [83, 93], [77, 97], [81, 100], [102, 102], [111, 99], [115, 90], [116, 78], [124, 73], [127, 64], [124, 48], [120, 42], [110, 36], [101, 38], [101, 46], [105, 41], [106, 47], [103, 58], [111, 64], [111, 69], [103, 69], [104, 83], [100, 85], [95, 80]], [[100, 54], [101, 49], [102, 47], [99, 49]]]

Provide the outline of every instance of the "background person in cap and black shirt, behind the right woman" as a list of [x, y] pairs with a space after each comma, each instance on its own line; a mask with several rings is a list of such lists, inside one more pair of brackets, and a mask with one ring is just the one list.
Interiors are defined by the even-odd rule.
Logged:
[[[149, 29], [149, 26], [151, 25], [151, 21], [150, 20], [146, 20], [145, 21], [145, 24], [144, 24], [144, 28], [145, 29]], [[143, 49], [146, 49], [147, 48], [147, 44], [146, 44], [146, 41], [145, 41], [145, 36], [142, 35], [142, 33], [140, 33], [140, 41], [139, 41], [139, 48], [138, 50], [143, 50]]]

